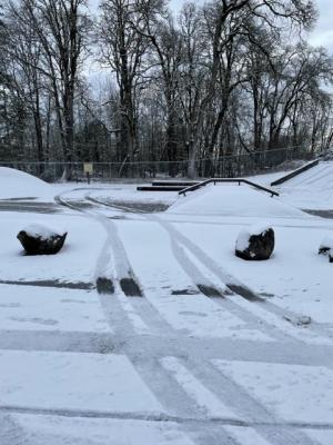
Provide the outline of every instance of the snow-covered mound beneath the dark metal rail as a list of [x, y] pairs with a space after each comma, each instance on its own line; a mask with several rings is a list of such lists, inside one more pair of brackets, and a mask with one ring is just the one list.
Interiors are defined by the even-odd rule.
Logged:
[[242, 185], [209, 185], [180, 197], [168, 210], [171, 214], [310, 218], [279, 198]]

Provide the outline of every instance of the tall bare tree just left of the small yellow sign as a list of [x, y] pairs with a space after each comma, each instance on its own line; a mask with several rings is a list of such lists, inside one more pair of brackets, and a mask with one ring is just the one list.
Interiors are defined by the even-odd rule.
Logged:
[[[19, 4], [10, 3], [12, 17], [29, 26], [34, 42], [31, 49], [33, 58], [22, 58], [21, 53], [17, 55], [17, 60], [26, 66], [27, 72], [39, 71], [52, 91], [67, 162], [71, 162], [74, 156], [78, 70], [87, 50], [85, 41], [90, 28], [90, 21], [84, 13], [85, 6], [85, 0], [21, 0]], [[22, 32], [20, 38], [24, 38]], [[29, 44], [29, 41], [26, 44]], [[70, 175], [70, 168], [65, 175]]]

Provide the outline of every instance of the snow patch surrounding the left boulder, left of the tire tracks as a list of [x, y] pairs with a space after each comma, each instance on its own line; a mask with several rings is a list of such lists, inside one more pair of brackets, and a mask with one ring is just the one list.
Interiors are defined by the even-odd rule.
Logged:
[[0, 279], [2, 280], [59, 280], [92, 283], [95, 276], [95, 257], [101, 251], [105, 233], [98, 222], [80, 216], [39, 215], [46, 227], [65, 226], [68, 236], [57, 255], [29, 257], [22, 255], [17, 234], [22, 221], [34, 224], [34, 214], [1, 212]]

